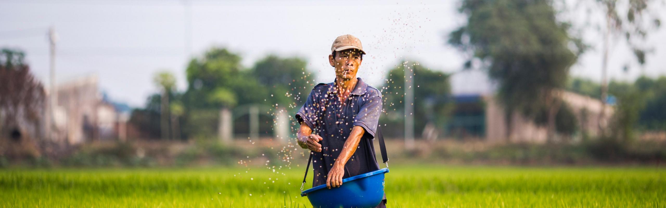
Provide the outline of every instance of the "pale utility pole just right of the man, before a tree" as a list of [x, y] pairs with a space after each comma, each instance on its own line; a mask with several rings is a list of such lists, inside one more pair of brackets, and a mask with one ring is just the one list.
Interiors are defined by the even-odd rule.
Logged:
[[414, 149], [414, 73], [406, 61], [402, 69], [405, 71], [405, 147]]

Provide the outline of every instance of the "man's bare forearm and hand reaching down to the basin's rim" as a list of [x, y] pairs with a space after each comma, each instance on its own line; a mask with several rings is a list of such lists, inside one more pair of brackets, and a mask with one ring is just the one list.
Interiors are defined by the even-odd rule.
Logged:
[[326, 187], [330, 189], [331, 187], [340, 187], [342, 185], [342, 177], [344, 176], [344, 165], [347, 161], [354, 155], [358, 143], [361, 141], [361, 137], [366, 133], [366, 130], [360, 126], [354, 126], [352, 128], [352, 133], [349, 134], [347, 141], [344, 142], [344, 147], [342, 147], [342, 152], [338, 155], [335, 163], [333, 163], [333, 168], [328, 171], [328, 176], [326, 177]]

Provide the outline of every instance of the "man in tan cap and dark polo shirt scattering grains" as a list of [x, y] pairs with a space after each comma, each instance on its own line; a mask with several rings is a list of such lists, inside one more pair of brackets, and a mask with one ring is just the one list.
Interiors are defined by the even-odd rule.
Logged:
[[[316, 85], [296, 113], [298, 145], [313, 154], [312, 187], [340, 187], [343, 178], [379, 169], [372, 139], [382, 93], [356, 77], [364, 54], [358, 38], [336, 38], [328, 55], [335, 80]], [[386, 207], [386, 195], [378, 207]]]

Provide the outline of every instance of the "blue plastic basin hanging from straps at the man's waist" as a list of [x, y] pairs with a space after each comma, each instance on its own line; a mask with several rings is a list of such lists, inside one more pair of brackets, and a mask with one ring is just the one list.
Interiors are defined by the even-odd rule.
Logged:
[[326, 184], [312, 187], [300, 195], [308, 196], [317, 208], [376, 207], [384, 198], [384, 173], [388, 173], [388, 168], [342, 179], [340, 187], [328, 189]]

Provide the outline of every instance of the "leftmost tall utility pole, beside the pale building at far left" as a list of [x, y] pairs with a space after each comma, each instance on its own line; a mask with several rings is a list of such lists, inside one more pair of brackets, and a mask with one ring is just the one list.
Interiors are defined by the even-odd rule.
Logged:
[[55, 34], [55, 27], [50, 27], [49, 28], [49, 105], [47, 107], [47, 113], [46, 113], [46, 120], [45, 120], [45, 131], [46, 133], [44, 136], [46, 137], [45, 139], [53, 139], [53, 133], [51, 132], [51, 126], [53, 125], [52, 121], [53, 119], [53, 111], [58, 104], [58, 91], [55, 89], [56, 83], [55, 83], [55, 42], [57, 41], [57, 35]]

